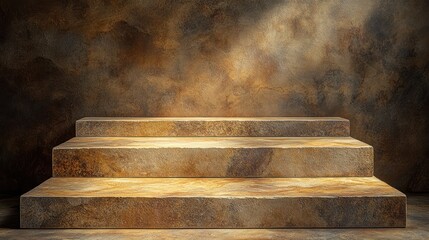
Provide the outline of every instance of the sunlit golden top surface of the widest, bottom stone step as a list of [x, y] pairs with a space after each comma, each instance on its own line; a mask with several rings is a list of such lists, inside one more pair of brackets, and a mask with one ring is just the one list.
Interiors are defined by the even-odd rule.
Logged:
[[51, 178], [22, 197], [405, 197], [376, 177]]

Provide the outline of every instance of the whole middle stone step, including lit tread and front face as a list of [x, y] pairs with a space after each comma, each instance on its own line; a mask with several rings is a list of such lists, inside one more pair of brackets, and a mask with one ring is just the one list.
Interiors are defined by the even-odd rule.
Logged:
[[53, 149], [54, 177], [373, 176], [351, 137], [76, 137]]

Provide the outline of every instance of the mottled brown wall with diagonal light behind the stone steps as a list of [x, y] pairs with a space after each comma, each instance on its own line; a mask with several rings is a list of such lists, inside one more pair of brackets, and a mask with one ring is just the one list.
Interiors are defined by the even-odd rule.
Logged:
[[429, 1], [0, 0], [0, 190], [84, 116], [340, 116], [429, 190]]

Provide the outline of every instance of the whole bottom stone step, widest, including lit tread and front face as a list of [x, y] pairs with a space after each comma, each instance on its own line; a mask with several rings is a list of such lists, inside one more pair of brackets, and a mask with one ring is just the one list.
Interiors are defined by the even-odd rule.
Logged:
[[375, 177], [51, 178], [21, 196], [22, 228], [405, 227]]

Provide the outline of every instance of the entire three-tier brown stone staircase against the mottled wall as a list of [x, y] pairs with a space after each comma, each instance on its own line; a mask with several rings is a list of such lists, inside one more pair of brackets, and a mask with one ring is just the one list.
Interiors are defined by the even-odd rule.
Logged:
[[405, 227], [342, 118], [83, 118], [22, 228]]

